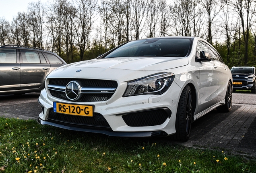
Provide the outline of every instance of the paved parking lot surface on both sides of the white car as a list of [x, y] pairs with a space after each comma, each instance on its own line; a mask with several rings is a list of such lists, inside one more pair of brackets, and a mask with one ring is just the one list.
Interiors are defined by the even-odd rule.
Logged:
[[[0, 117], [37, 119], [41, 112], [38, 97], [39, 93], [0, 95]], [[189, 141], [170, 142], [256, 158], [256, 94], [233, 93], [231, 112], [213, 110], [192, 123]]]

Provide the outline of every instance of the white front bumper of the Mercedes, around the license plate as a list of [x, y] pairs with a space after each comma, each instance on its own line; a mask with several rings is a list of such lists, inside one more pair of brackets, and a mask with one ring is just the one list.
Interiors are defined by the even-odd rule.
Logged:
[[[85, 131], [93, 133], [103, 133], [109, 136], [126, 136], [126, 137], [151, 137], [151, 136], [167, 136], [174, 134], [175, 131], [175, 119], [176, 111], [178, 107], [178, 101], [181, 93], [181, 88], [173, 82], [171, 87], [160, 96], [155, 95], [140, 95], [132, 97], [117, 97], [113, 95], [109, 101], [103, 102], [90, 102], [90, 103], [79, 103], [94, 105], [94, 112], [100, 114], [107, 124], [108, 127], [93, 126], [93, 125], [74, 125], [72, 122], [65, 123], [63, 121], [52, 121], [49, 119], [49, 114], [52, 114], [53, 102], [60, 103], [72, 103], [71, 101], [64, 101], [52, 96], [47, 95], [46, 90], [41, 91], [38, 99], [42, 106], [43, 112], [39, 114], [39, 122], [42, 125], [52, 125], [63, 129], [70, 129], [75, 131]], [[158, 115], [153, 121], [148, 120], [149, 124], [144, 122], [147, 121], [147, 114], [140, 115], [141, 112], [151, 112], [155, 110], [165, 110], [167, 112], [166, 120], [162, 121], [161, 124], [154, 124], [158, 120]], [[169, 110], [169, 111], [168, 111]], [[156, 111], [158, 112], [158, 111]], [[133, 116], [133, 117], [132, 117]], [[74, 119], [81, 116], [73, 116]], [[102, 117], [100, 117], [102, 119]], [[125, 118], [129, 117], [138, 118], [134, 121], [142, 122], [138, 125], [128, 123]], [[96, 118], [96, 117], [95, 117]], [[154, 117], [153, 117], [154, 118]], [[79, 120], [80, 121], [80, 120]], [[81, 120], [86, 121], [86, 120]], [[150, 124], [152, 123], [153, 124]]]

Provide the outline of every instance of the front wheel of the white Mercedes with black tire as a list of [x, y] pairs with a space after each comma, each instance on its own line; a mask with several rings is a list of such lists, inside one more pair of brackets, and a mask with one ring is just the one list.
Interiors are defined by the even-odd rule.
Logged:
[[171, 139], [177, 141], [188, 141], [192, 124], [193, 100], [192, 90], [190, 86], [186, 86], [180, 96], [180, 101], [177, 109], [175, 129], [176, 133]]

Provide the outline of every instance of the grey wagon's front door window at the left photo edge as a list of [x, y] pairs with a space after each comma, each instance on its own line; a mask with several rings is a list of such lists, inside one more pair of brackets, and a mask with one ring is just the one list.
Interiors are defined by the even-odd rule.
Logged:
[[17, 63], [16, 49], [0, 50], [0, 63]]

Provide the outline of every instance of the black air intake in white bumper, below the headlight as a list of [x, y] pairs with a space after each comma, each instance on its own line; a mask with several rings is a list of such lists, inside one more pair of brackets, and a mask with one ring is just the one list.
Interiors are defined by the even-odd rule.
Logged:
[[168, 118], [168, 113], [164, 109], [141, 111], [123, 115], [126, 125], [130, 127], [145, 127], [163, 124]]

